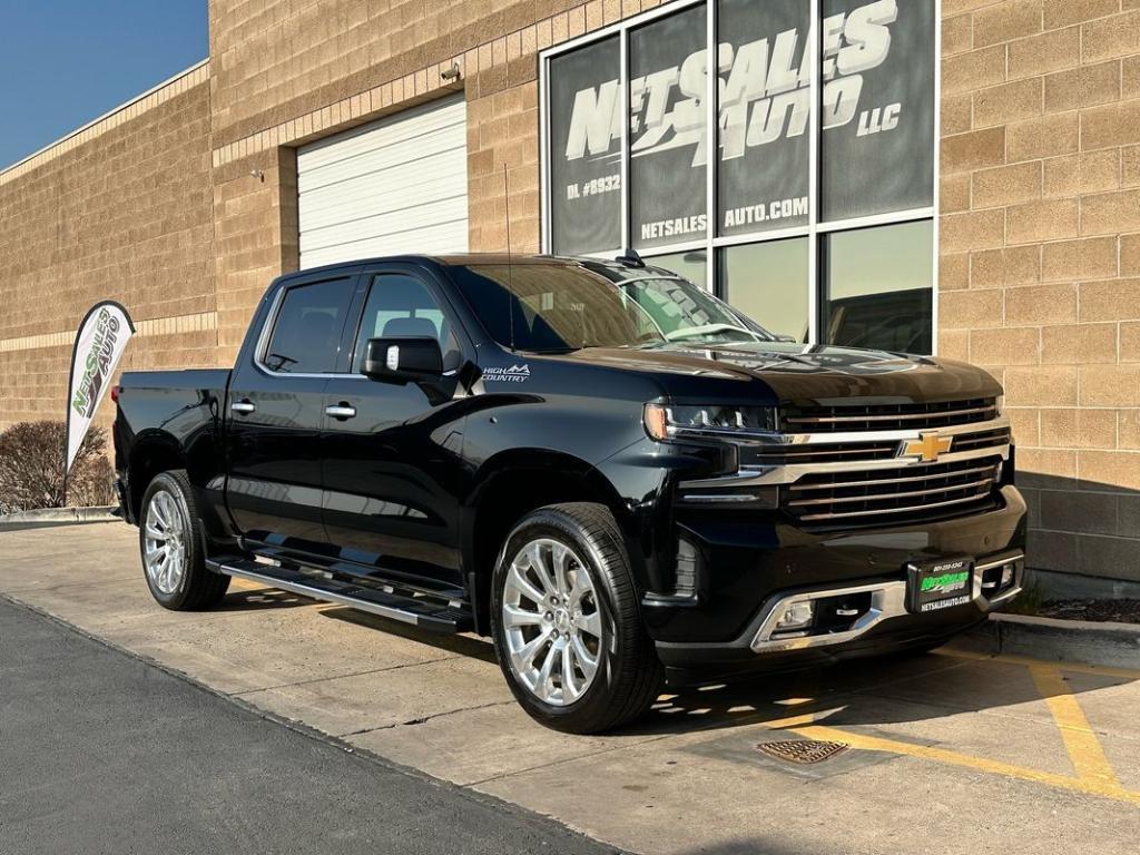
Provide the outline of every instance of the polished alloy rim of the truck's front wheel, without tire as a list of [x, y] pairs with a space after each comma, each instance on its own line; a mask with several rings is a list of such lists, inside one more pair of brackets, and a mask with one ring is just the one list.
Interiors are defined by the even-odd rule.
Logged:
[[540, 701], [564, 707], [597, 674], [602, 613], [586, 564], [549, 538], [514, 556], [503, 591], [503, 634], [511, 670]]

